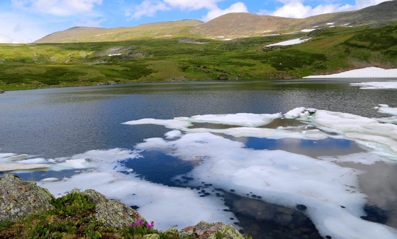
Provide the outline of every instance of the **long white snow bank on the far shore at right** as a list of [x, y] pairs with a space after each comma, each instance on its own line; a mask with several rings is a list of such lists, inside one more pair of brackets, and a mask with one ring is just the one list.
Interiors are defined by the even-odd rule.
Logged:
[[377, 77], [396, 78], [397, 69], [382, 69], [379, 67], [367, 67], [362, 69], [348, 70], [337, 74], [312, 75], [303, 78], [377, 78]]

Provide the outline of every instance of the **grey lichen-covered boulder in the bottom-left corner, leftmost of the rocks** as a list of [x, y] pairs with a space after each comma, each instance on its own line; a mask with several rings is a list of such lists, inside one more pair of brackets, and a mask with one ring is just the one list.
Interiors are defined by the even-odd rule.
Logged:
[[16, 221], [32, 213], [53, 208], [54, 196], [33, 181], [15, 175], [0, 177], [0, 221]]

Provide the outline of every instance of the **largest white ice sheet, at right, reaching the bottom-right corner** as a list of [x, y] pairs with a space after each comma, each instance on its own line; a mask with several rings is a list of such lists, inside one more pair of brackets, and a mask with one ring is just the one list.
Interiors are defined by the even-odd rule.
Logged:
[[[233, 189], [242, 196], [254, 192], [266, 201], [289, 207], [304, 204], [308, 208], [307, 214], [323, 236], [374, 238], [382, 235], [383, 238], [396, 238], [395, 229], [360, 218], [365, 215], [363, 206], [366, 198], [366, 195], [360, 193], [357, 184], [357, 176], [361, 172], [339, 167], [332, 162], [370, 165], [376, 161], [387, 160], [384, 157], [386, 155], [396, 158], [397, 126], [381, 124], [376, 119], [321, 110], [310, 118], [305, 113], [306, 110], [296, 108], [284, 114], [284, 117], [303, 117], [318, 128], [338, 132], [341, 137], [367, 145], [368, 150], [373, 150], [374, 153], [324, 157], [321, 161], [280, 150], [247, 149], [242, 142], [213, 134], [217, 132], [237, 137], [258, 137], [262, 134], [264, 137], [274, 137], [274, 134], [282, 130], [288, 131], [254, 127], [200, 128], [197, 131], [178, 128], [185, 130], [186, 134], [176, 140], [152, 138], [136, 147], [141, 150], [160, 150], [183, 160], [200, 159], [201, 163], [187, 175], [198, 179], [190, 182], [192, 186], [197, 186], [201, 180], [205, 180], [214, 187]], [[214, 118], [216, 117], [208, 120]], [[188, 122], [192, 119], [180, 120]], [[228, 121], [227, 118], [225, 121]], [[166, 125], [172, 128], [172, 123]], [[297, 132], [290, 132], [284, 137], [290, 137], [293, 133]], [[351, 191], [351, 188], [356, 188], [356, 191]]]

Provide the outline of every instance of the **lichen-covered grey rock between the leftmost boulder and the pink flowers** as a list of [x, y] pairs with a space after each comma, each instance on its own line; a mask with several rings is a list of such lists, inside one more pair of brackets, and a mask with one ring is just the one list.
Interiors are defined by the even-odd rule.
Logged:
[[147, 223], [134, 209], [119, 200], [110, 200], [92, 189], [87, 189], [82, 193], [94, 201], [96, 204], [95, 220], [103, 223], [105, 227], [121, 229], [130, 224], [133, 225], [137, 221], [142, 221], [143, 225]]

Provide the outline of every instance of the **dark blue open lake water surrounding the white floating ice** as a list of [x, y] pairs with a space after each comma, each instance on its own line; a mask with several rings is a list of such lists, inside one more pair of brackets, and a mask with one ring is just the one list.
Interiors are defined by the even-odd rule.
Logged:
[[[362, 90], [349, 85], [353, 82], [377, 80], [380, 79], [182, 82], [9, 91], [0, 95], [0, 153], [56, 158], [93, 149], [132, 149], [143, 139], [163, 137], [169, 131], [159, 125], [122, 124], [143, 118], [173, 119], [233, 113], [274, 114], [286, 113], [296, 107], [363, 117], [390, 117], [373, 108], [378, 104], [396, 107], [396, 90]], [[275, 120], [272, 127], [286, 126], [282, 123], [285, 124], [285, 121]], [[288, 122], [288, 125], [301, 124], [296, 120]], [[313, 145], [313, 140], [300, 139], [248, 138], [246, 142], [248, 148], [282, 149], [310, 157], [362, 151], [349, 140], [327, 139], [316, 146]], [[144, 154], [149, 159], [145, 164], [126, 164], [136, 169], [135, 172], [141, 177], [153, 182], [176, 185], [178, 181], [172, 181], [171, 178], [193, 168], [192, 165], [161, 152]], [[361, 169], [368, 171], [360, 179], [365, 185], [363, 190], [371, 194], [371, 205], [379, 205], [379, 208], [368, 210], [375, 211], [373, 221], [378, 220], [396, 227], [396, 220], [385, 219], [397, 218], [396, 198], [382, 197], [378, 200], [376, 190], [386, 188], [388, 193], [395, 194], [397, 180], [395, 177], [379, 179], [386, 171], [393, 175], [390, 167], [379, 165], [374, 168], [376, 170]], [[40, 180], [35, 174], [22, 174], [22, 177]], [[364, 183], [365, 181], [372, 183]], [[321, 238], [300, 210], [266, 204], [252, 195], [240, 197], [230, 192], [223, 194], [226, 204], [240, 220], [240, 226], [254, 238]], [[381, 207], [385, 210], [381, 210]], [[268, 214], [262, 217], [253, 215], [252, 212], [258, 208]], [[267, 230], [268, 228], [274, 230]]]

